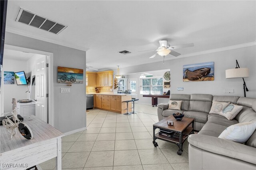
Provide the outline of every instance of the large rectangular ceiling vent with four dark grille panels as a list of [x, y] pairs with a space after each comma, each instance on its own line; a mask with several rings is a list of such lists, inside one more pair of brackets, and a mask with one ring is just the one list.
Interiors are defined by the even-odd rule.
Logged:
[[49, 18], [40, 16], [34, 12], [24, 10], [23, 8], [20, 8], [15, 21], [52, 32], [54, 34], [59, 34], [67, 28], [64, 24], [60, 24], [59, 22], [55, 22], [54, 20], [50, 20]]

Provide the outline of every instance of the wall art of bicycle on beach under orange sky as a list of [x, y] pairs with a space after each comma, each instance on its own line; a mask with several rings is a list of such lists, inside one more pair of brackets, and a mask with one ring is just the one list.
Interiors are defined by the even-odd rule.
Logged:
[[84, 83], [84, 70], [58, 67], [58, 83]]

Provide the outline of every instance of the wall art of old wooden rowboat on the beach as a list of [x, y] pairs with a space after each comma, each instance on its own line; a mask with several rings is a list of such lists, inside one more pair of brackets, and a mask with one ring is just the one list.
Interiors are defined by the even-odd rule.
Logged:
[[214, 81], [214, 62], [183, 65], [183, 81]]

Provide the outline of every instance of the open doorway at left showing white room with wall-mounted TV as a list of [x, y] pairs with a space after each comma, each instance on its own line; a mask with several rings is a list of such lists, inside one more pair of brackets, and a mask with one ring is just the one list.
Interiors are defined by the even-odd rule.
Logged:
[[[12, 45], [5, 45], [3, 59], [3, 79], [0, 93], [0, 111], [2, 113], [12, 111], [12, 98], [16, 100], [31, 99], [28, 105], [17, 104], [17, 112], [20, 115], [36, 115], [39, 119], [53, 126], [52, 115], [52, 53], [38, 51]], [[5, 73], [24, 71], [26, 83], [19, 84], [17, 75], [5, 79]], [[10, 76], [9, 76], [10, 77]], [[17, 83], [18, 82], [18, 83]]]

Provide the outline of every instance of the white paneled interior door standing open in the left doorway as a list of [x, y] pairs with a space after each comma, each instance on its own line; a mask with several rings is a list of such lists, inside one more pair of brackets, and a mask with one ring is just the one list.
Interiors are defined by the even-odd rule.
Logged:
[[36, 61], [36, 117], [48, 123], [48, 67], [46, 67], [47, 57], [42, 57]]

